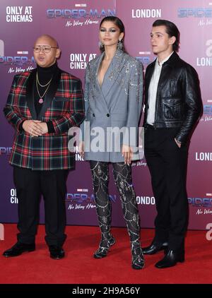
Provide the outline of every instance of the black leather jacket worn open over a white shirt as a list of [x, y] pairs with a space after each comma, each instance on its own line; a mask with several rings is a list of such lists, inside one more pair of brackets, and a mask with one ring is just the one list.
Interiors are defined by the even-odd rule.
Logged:
[[[148, 112], [148, 87], [155, 61], [146, 68], [144, 126]], [[201, 115], [201, 92], [195, 69], [180, 59], [176, 52], [162, 66], [155, 105], [155, 129], [179, 127], [175, 138], [181, 143], [186, 142]]]

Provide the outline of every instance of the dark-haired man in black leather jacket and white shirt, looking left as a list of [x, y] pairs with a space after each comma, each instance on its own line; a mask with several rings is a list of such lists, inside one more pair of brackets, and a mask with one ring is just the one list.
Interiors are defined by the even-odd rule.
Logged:
[[177, 26], [168, 20], [155, 20], [151, 46], [158, 57], [146, 68], [144, 152], [157, 216], [155, 237], [143, 254], [165, 249], [164, 258], [155, 267], [167, 268], [184, 261], [187, 155], [202, 104], [196, 71], [177, 55]]

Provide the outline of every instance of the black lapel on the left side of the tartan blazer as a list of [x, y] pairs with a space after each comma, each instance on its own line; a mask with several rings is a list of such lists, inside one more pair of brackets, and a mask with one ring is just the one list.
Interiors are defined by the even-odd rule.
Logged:
[[35, 68], [30, 73], [30, 76], [28, 78], [27, 85], [26, 85], [26, 103], [30, 110], [30, 114], [32, 115], [34, 120], [37, 119], [37, 113], [35, 111], [35, 105], [34, 105], [34, 89], [35, 89], [36, 71], [37, 71], [37, 69]]

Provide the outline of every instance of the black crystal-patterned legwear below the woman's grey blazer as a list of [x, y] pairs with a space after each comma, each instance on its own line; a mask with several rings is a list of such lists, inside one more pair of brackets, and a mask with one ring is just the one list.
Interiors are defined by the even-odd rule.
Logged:
[[[108, 162], [92, 160], [90, 161], [90, 169], [93, 177], [95, 205], [101, 230], [99, 251], [104, 248], [107, 248], [108, 251], [114, 243], [114, 238], [110, 233], [112, 203], [108, 191]], [[140, 218], [136, 194], [131, 181], [131, 165], [124, 164], [124, 162], [112, 162], [112, 173], [121, 198], [124, 220], [126, 221], [131, 242], [132, 266], [135, 269], [141, 269], [144, 266], [144, 260], [140, 243]]]

